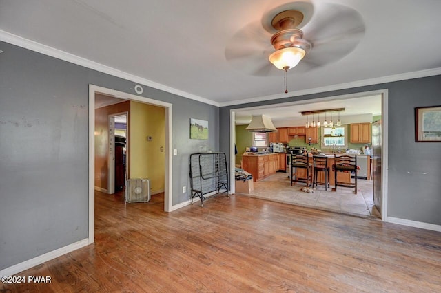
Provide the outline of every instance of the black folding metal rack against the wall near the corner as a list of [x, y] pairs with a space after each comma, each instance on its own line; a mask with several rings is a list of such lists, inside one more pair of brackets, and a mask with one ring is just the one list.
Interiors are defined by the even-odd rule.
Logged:
[[189, 157], [189, 175], [192, 204], [194, 197], [201, 199], [201, 207], [207, 193], [217, 191], [229, 197], [229, 177], [225, 153], [192, 153]]

